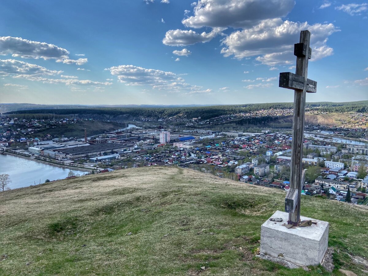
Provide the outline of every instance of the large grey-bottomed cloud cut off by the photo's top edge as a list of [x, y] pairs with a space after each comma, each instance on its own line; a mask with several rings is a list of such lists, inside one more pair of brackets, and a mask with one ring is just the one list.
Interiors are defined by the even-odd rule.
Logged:
[[249, 27], [269, 18], [286, 16], [294, 0], [199, 0], [193, 3], [194, 15], [181, 21], [193, 28]]

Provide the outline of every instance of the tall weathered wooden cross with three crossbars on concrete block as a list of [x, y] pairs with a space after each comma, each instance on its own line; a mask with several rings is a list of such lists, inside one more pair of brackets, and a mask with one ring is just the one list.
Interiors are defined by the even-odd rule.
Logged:
[[302, 171], [305, 95], [306, 92], [317, 92], [317, 82], [307, 79], [308, 60], [312, 53], [309, 47], [310, 39], [311, 33], [308, 30], [300, 32], [300, 43], [294, 44], [294, 55], [297, 56], [296, 72], [282, 72], [279, 79], [279, 87], [294, 90], [290, 189], [285, 198], [285, 212], [289, 212], [287, 223], [294, 226], [300, 222], [300, 194], [305, 181], [305, 172]]

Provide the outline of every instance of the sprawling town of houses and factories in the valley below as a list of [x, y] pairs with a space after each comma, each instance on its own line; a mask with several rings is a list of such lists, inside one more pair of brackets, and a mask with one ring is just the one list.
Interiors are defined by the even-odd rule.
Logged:
[[[190, 128], [193, 124], [208, 125], [209, 121], [193, 118], [192, 123], [184, 121], [182, 127], [174, 127], [165, 126], [164, 119], [159, 118], [155, 123], [160, 127], [156, 128], [141, 123], [141, 127], [129, 125], [119, 131], [90, 137], [85, 130], [85, 137], [78, 139], [51, 134], [35, 137], [41, 129], [45, 130], [45, 125], [57, 128], [84, 120], [87, 119], [18, 120], [1, 116], [0, 150], [86, 173], [142, 166], [180, 166], [241, 183], [285, 191], [290, 188], [292, 137], [289, 130], [193, 129]], [[153, 125], [151, 120], [146, 121], [150, 121], [148, 126]], [[302, 194], [367, 204], [366, 132], [325, 125], [306, 125], [305, 130], [302, 162], [306, 179]], [[346, 137], [359, 137], [359, 141], [349, 140], [344, 144], [347, 140], [342, 138]]]

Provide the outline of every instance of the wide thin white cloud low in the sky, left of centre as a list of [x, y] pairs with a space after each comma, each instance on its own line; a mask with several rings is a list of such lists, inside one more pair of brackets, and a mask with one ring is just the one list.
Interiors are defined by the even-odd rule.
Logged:
[[153, 89], [170, 92], [205, 91], [202, 86], [191, 85], [179, 75], [157, 69], [147, 69], [134, 65], [120, 65], [105, 69], [117, 76], [125, 85], [149, 85]]

